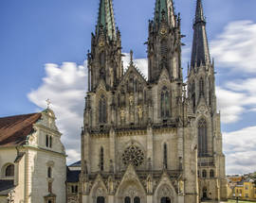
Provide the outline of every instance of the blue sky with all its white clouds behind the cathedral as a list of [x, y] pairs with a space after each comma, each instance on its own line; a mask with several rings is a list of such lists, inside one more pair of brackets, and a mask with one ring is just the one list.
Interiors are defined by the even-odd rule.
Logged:
[[[69, 161], [79, 159], [77, 148], [86, 88], [83, 64], [95, 29], [99, 2], [0, 2], [0, 116], [42, 110], [49, 97], [64, 133]], [[253, 90], [256, 85], [256, 1], [204, 0], [203, 3], [210, 53], [218, 72], [216, 85], [223, 115], [227, 171], [246, 173], [256, 168], [256, 162], [251, 161], [251, 156], [256, 155], [256, 91]], [[182, 33], [187, 36], [183, 40], [187, 44], [183, 47], [186, 69], [195, 0], [175, 0], [174, 4], [176, 12], [181, 13]], [[143, 43], [154, 6], [155, 0], [114, 0], [122, 51], [128, 53], [133, 49], [142, 71], [146, 69]], [[67, 122], [70, 118], [73, 118], [71, 124]]]

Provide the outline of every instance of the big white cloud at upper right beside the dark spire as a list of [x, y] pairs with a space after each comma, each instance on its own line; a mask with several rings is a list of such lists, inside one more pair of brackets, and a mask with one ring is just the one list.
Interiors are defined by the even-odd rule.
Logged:
[[242, 73], [256, 73], [256, 24], [251, 21], [231, 22], [215, 40], [210, 52], [221, 67]]

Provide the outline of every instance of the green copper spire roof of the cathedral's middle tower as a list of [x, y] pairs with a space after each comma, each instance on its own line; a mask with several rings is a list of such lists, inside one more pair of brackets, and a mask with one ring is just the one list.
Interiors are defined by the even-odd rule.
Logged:
[[155, 23], [165, 18], [170, 25], [175, 25], [174, 2], [173, 0], [155, 0]]

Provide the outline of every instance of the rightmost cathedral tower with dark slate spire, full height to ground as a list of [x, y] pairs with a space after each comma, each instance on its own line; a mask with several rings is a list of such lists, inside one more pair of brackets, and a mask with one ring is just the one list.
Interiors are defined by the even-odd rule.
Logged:
[[198, 145], [199, 195], [202, 199], [227, 199], [225, 156], [222, 151], [220, 113], [217, 112], [215, 71], [210, 61], [206, 18], [202, 0], [197, 0], [193, 22], [191, 68], [188, 94]]

